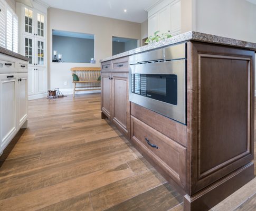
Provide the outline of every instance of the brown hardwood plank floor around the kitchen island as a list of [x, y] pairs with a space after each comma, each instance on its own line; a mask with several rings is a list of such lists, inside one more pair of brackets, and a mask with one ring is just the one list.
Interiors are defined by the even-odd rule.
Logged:
[[[1, 211], [183, 210], [183, 197], [101, 120], [99, 94], [33, 100], [29, 112], [0, 157]], [[256, 210], [255, 193], [256, 178], [212, 210]]]

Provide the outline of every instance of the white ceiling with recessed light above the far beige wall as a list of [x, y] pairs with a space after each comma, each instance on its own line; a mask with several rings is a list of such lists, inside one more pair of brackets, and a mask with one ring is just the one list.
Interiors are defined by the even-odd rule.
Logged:
[[[50, 7], [80, 13], [142, 23], [147, 20], [146, 8], [157, 0], [41, 0]], [[127, 9], [127, 12], [124, 12]]]

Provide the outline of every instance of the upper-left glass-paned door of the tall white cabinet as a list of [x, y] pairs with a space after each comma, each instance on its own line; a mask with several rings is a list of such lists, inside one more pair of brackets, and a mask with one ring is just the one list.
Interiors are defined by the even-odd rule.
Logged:
[[23, 15], [24, 20], [22, 21], [23, 25], [23, 34], [26, 35], [34, 35], [34, 12], [29, 7], [23, 7]]

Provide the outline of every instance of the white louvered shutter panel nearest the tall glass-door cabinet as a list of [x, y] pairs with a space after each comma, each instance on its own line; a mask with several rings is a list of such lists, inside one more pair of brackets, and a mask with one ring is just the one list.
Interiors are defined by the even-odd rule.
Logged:
[[18, 52], [18, 17], [6, 7], [6, 49]]

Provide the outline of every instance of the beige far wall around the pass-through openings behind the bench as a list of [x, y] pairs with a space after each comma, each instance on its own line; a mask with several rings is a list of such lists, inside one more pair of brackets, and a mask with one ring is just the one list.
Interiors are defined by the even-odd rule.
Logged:
[[[48, 87], [51, 89], [72, 88], [70, 68], [74, 66], [100, 66], [100, 60], [112, 55], [112, 36], [140, 39], [139, 23], [121, 21], [107, 17], [48, 9]], [[52, 30], [63, 30], [95, 35], [96, 64], [52, 63]], [[64, 81], [68, 85], [64, 86]]]

